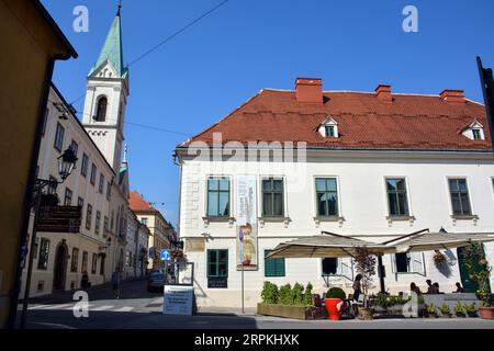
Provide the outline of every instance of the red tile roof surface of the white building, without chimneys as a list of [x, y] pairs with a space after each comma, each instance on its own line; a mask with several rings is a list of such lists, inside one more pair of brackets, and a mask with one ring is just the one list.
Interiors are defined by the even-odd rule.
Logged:
[[[485, 107], [467, 100], [450, 103], [439, 95], [392, 94], [384, 103], [377, 93], [326, 91], [324, 104], [300, 104], [294, 91], [263, 89], [226, 117], [198, 134], [191, 141], [223, 143], [306, 141], [307, 147], [334, 149], [452, 149], [490, 150], [485, 140], [471, 140], [459, 131], [474, 120], [487, 125]], [[328, 117], [338, 123], [338, 138], [323, 137], [318, 126]]]

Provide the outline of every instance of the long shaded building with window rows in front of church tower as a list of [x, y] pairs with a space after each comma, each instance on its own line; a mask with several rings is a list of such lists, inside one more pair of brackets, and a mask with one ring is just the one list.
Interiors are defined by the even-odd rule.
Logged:
[[[63, 113], [57, 107], [68, 112], [64, 118], [60, 118]], [[37, 178], [59, 181], [57, 158], [69, 147], [77, 154], [77, 168], [56, 190], [47, 191], [57, 194], [59, 205], [81, 206], [80, 231], [37, 233], [31, 296], [78, 288], [85, 271], [92, 285], [108, 281], [111, 275], [108, 244], [115, 235], [115, 228], [110, 226], [115, 173], [80, 122], [69, 112], [61, 94], [52, 86]], [[33, 223], [34, 213], [30, 233]], [[27, 265], [23, 271], [23, 284], [26, 271]], [[24, 290], [25, 285], [21, 292]]]

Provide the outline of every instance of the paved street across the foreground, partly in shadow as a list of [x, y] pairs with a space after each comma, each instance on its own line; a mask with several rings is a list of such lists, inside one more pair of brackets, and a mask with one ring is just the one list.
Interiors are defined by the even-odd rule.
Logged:
[[146, 292], [145, 281], [125, 282], [121, 298], [112, 297], [109, 285], [89, 292], [89, 317], [76, 318], [75, 302], [64, 293], [33, 298], [27, 328], [64, 329], [494, 329], [494, 321], [480, 318], [377, 319], [373, 321], [292, 320], [256, 316], [254, 309], [203, 308], [192, 317], [162, 316], [160, 294]]

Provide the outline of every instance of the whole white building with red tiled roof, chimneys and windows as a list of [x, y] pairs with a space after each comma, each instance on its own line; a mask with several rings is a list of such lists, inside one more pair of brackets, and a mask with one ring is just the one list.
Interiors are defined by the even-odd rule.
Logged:
[[[178, 146], [179, 236], [195, 265], [199, 306], [242, 305], [243, 260], [249, 307], [260, 302], [265, 281], [351, 292], [351, 258], [265, 258], [299, 237], [329, 231], [384, 242], [423, 229], [494, 231], [494, 157], [482, 105], [445, 93], [391, 94], [388, 86], [351, 93], [323, 92], [321, 84], [297, 80], [295, 91], [263, 90]], [[465, 135], [472, 127], [481, 134]], [[494, 246], [485, 250], [492, 262]], [[442, 292], [456, 282], [472, 288], [462, 249], [441, 252], [444, 267], [434, 251], [384, 256], [386, 290], [415, 282], [424, 291], [427, 279]]]

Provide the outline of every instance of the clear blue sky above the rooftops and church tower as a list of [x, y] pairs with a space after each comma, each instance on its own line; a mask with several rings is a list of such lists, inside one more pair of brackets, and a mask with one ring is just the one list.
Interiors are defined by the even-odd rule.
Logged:
[[[131, 63], [222, 0], [123, 0], [124, 63]], [[85, 93], [116, 12], [116, 0], [43, 0], [79, 53], [59, 61], [54, 82], [71, 102]], [[405, 5], [418, 32], [402, 30]], [[89, 32], [72, 30], [76, 5]], [[494, 1], [229, 0], [130, 68], [126, 122], [194, 135], [262, 88], [293, 89], [321, 77], [325, 90], [439, 93], [463, 89], [481, 101], [475, 57], [494, 66]], [[82, 110], [83, 99], [75, 103]], [[81, 115], [79, 115], [81, 116]], [[177, 224], [181, 134], [125, 125], [131, 188]]]

